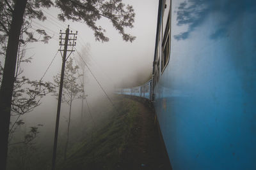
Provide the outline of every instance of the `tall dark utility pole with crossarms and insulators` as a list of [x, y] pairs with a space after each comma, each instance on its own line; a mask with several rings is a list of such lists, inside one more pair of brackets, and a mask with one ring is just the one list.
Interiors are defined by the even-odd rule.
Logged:
[[[65, 38], [62, 36], [65, 34]], [[54, 145], [53, 145], [53, 153], [52, 153], [52, 170], [55, 169], [56, 166], [56, 152], [57, 152], [57, 143], [58, 143], [58, 131], [59, 131], [59, 123], [60, 123], [60, 108], [61, 108], [61, 97], [62, 97], [62, 89], [63, 89], [63, 80], [64, 80], [64, 73], [65, 73], [65, 63], [72, 52], [74, 52], [74, 46], [76, 46], [75, 40], [77, 39], [77, 31], [76, 33], [69, 32], [69, 25], [66, 29], [66, 32], [60, 31], [60, 52], [63, 52], [62, 56], [62, 67], [61, 67], [61, 77], [60, 77], [60, 90], [58, 96], [58, 107], [57, 107], [57, 115], [56, 115], [56, 126], [55, 126], [55, 135], [54, 135]], [[65, 43], [63, 45], [63, 40]], [[68, 41], [70, 43], [68, 44]], [[62, 49], [62, 47], [64, 48]], [[68, 50], [68, 46], [71, 46], [71, 50]], [[67, 57], [67, 52], [70, 52]]]

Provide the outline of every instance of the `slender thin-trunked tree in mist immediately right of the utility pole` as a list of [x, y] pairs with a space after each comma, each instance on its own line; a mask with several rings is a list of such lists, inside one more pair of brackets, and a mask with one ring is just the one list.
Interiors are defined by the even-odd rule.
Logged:
[[[72, 102], [75, 99], [84, 98], [84, 88], [81, 84], [77, 83], [77, 78], [79, 78], [80, 76], [83, 76], [83, 74], [78, 74], [78, 69], [79, 69], [78, 66], [73, 66], [72, 58], [67, 60], [67, 65], [65, 66], [65, 74], [64, 74], [65, 78], [63, 81], [63, 94], [61, 98], [61, 101], [67, 103], [69, 106], [67, 141], [66, 141], [65, 151], [64, 151], [64, 160], [66, 160], [67, 158]], [[57, 76], [54, 76], [54, 83], [55, 83], [55, 87], [59, 87], [60, 74], [58, 74]], [[58, 96], [58, 92], [54, 92], [54, 95]]]

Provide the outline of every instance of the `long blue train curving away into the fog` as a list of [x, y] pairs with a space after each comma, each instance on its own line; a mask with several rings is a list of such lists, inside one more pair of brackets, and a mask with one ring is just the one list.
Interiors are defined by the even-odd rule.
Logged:
[[150, 99], [173, 169], [256, 169], [256, 1], [160, 0]]

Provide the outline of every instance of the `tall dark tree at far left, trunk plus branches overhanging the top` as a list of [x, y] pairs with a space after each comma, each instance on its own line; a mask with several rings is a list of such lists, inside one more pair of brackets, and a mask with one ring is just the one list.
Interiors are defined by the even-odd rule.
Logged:
[[[8, 131], [10, 125], [10, 112], [12, 106], [13, 85], [15, 82], [15, 66], [17, 61], [17, 51], [22, 25], [26, 20], [38, 18], [45, 20], [44, 13], [40, 8], [51, 6], [60, 8], [58, 15], [60, 20], [84, 22], [93, 31], [95, 39], [98, 41], [108, 41], [104, 36], [105, 29], [96, 24], [102, 17], [108, 18], [113, 27], [122, 35], [125, 41], [133, 41], [134, 36], [125, 33], [125, 27], [133, 27], [134, 10], [132, 6], [125, 6], [122, 0], [3, 0], [0, 2], [0, 40], [8, 43], [3, 49], [5, 53], [3, 80], [0, 89], [0, 169], [6, 169], [6, 156], [8, 150]], [[25, 14], [25, 15], [24, 15]], [[26, 18], [24, 18], [26, 16]], [[40, 31], [38, 31], [40, 32]]]

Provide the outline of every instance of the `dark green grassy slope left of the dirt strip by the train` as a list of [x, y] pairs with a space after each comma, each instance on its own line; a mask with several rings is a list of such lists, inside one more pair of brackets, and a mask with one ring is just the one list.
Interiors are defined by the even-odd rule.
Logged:
[[68, 151], [66, 162], [58, 162], [58, 169], [116, 169], [131, 136], [138, 108], [129, 99], [119, 98], [115, 103], [118, 113], [112, 110], [97, 130], [92, 129], [84, 141], [75, 143]]

